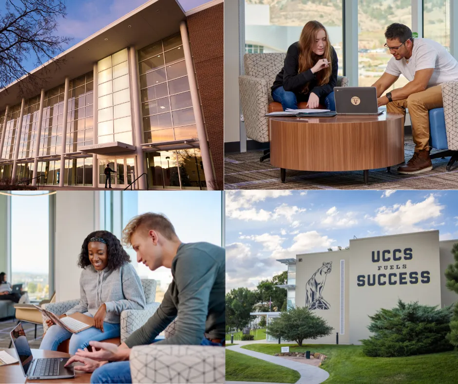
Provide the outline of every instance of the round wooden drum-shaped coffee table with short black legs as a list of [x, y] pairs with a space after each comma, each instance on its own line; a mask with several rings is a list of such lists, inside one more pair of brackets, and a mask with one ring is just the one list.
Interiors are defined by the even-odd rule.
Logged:
[[270, 164], [297, 171], [361, 171], [388, 168], [404, 161], [403, 117], [270, 117]]

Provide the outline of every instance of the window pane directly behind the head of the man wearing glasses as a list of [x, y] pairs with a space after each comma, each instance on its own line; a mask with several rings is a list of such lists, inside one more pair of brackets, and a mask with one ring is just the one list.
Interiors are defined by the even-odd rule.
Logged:
[[[358, 85], [370, 87], [385, 72], [392, 57], [383, 45], [385, 29], [394, 21], [412, 28], [411, 0], [358, 0]], [[416, 32], [416, 31], [412, 31]], [[401, 88], [408, 80], [402, 75], [389, 88]]]

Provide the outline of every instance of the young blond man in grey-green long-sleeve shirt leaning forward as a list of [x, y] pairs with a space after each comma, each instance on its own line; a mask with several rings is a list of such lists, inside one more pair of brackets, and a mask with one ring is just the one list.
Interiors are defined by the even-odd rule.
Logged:
[[[225, 250], [210, 243], [182, 243], [172, 223], [162, 214], [134, 217], [122, 241], [132, 246], [137, 261], [149, 269], [172, 269], [172, 283], [153, 316], [120, 346], [90, 342], [99, 350], [78, 350], [67, 365], [94, 372], [91, 383], [132, 383], [131, 348], [152, 344], [172, 321], [175, 334], [155, 344], [222, 346], [225, 337]], [[108, 362], [112, 362], [107, 364]]]

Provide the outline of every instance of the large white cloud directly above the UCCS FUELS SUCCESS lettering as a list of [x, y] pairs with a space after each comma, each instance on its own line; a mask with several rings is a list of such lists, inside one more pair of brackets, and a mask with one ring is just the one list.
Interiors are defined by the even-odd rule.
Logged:
[[441, 215], [445, 206], [430, 194], [424, 201], [412, 203], [408, 200], [405, 204], [394, 204], [392, 207], [380, 207], [377, 214], [370, 217], [381, 226], [386, 233], [406, 233], [423, 230], [421, 223]]

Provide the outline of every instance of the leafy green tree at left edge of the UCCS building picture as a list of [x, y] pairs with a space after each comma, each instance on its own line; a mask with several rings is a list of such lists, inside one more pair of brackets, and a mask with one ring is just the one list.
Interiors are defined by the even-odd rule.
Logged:
[[256, 297], [248, 288], [232, 289], [226, 294], [226, 325], [241, 329], [247, 326], [254, 316], [250, 316]]

